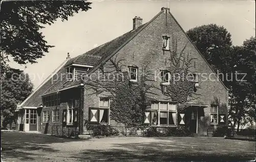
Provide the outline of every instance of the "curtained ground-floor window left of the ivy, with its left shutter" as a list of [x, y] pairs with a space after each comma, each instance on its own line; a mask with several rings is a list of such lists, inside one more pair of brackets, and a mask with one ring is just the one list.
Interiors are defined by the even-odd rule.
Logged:
[[99, 108], [89, 107], [90, 122], [109, 124], [110, 98], [99, 98]]

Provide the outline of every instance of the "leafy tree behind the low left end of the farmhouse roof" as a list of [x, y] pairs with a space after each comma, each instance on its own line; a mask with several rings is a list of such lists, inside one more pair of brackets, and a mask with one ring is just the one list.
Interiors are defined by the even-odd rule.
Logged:
[[33, 84], [29, 75], [23, 71], [11, 69], [1, 79], [1, 113], [4, 117], [3, 126], [14, 121], [16, 104], [24, 101], [32, 92]]

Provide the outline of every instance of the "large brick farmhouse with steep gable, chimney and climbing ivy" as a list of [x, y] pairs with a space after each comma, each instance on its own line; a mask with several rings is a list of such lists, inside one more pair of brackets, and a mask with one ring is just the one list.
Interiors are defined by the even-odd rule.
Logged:
[[163, 7], [147, 23], [136, 16], [130, 32], [68, 55], [15, 112], [22, 131], [51, 133], [59, 125], [83, 134], [86, 123], [140, 121], [136, 113], [127, 116], [134, 111], [142, 124], [205, 135], [227, 124], [227, 104], [227, 88]]

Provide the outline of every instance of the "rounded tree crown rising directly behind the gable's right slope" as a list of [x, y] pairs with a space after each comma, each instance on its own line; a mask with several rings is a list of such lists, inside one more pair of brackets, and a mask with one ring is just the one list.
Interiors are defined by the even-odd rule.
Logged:
[[217, 24], [201, 25], [188, 30], [187, 35], [215, 71], [225, 66], [223, 58], [232, 45], [227, 29]]

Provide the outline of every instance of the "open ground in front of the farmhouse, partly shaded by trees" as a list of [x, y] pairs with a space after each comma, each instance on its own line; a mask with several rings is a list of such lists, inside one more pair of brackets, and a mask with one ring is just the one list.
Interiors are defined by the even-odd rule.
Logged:
[[60, 139], [1, 132], [4, 161], [252, 160], [255, 142], [206, 137]]

